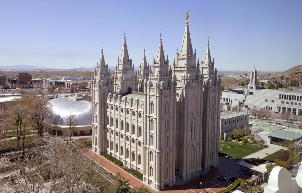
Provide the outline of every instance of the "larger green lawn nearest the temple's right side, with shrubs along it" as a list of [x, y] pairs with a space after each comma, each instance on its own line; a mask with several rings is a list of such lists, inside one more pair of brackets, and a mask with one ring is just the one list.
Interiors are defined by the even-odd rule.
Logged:
[[[223, 144], [223, 147], [221, 144]], [[233, 159], [244, 158], [245, 156], [248, 156], [263, 149], [263, 147], [259, 147], [249, 143], [243, 143], [242, 145], [232, 143], [231, 147], [227, 146], [228, 144], [226, 142], [219, 142], [219, 149], [223, 149], [222, 151], [219, 150], [219, 152], [226, 153], [229, 155], [229, 157], [232, 157]]]

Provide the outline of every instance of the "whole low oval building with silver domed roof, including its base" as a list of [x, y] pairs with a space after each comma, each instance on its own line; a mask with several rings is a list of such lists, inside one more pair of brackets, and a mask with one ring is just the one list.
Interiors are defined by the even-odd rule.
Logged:
[[74, 136], [91, 135], [92, 108], [91, 102], [82, 97], [59, 97], [49, 101], [52, 107], [53, 120], [48, 122], [45, 130], [53, 135], [63, 135], [69, 124], [68, 117], [73, 116], [75, 126], [72, 129]]

